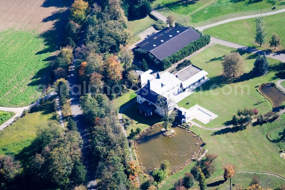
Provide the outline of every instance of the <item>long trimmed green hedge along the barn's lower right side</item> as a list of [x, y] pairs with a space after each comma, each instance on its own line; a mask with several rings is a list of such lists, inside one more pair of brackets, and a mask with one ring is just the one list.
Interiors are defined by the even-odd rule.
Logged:
[[164, 58], [161, 60], [163, 70], [169, 68], [172, 64], [184, 59], [185, 57], [191, 55], [195, 51], [201, 49], [202, 47], [209, 44], [211, 41], [211, 37], [209, 35], [203, 35], [198, 40], [195, 40], [185, 46], [184, 48], [180, 49], [176, 53]]

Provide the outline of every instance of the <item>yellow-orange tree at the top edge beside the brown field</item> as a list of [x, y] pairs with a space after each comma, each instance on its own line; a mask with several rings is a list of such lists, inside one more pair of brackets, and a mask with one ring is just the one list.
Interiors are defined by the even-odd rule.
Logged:
[[82, 25], [86, 22], [87, 11], [88, 11], [87, 2], [83, 0], [75, 0], [70, 8], [71, 12], [70, 19], [78, 23], [79, 25]]

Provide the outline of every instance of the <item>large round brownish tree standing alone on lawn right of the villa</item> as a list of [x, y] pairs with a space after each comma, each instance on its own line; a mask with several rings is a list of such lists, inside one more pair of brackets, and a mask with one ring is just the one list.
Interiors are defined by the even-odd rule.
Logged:
[[227, 54], [222, 62], [224, 75], [226, 77], [241, 75], [243, 73], [244, 64], [241, 54], [238, 52]]

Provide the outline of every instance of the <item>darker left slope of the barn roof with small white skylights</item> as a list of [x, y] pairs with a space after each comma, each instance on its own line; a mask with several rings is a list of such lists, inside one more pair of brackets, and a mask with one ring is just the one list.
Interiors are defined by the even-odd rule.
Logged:
[[[142, 50], [151, 51], [154, 48], [166, 43], [170, 39], [180, 35], [182, 32], [188, 29], [189, 27], [184, 27], [184, 26], [177, 26], [175, 28], [166, 27], [165, 29], [159, 31], [158, 33], [148, 37], [141, 43], [138, 43], [136, 46], [141, 47], [140, 49]], [[179, 31], [179, 33], [177, 31]], [[172, 37], [169, 37], [169, 36], [172, 36]]]

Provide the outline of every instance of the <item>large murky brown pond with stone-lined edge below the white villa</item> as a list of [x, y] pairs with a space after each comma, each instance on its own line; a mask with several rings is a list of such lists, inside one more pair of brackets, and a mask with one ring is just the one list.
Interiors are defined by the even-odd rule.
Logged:
[[154, 126], [153, 129], [149, 128], [136, 141], [136, 151], [138, 151], [136, 154], [139, 155], [139, 163], [146, 173], [159, 168], [162, 160], [168, 160], [171, 169], [183, 167], [186, 161], [188, 163], [191, 161], [195, 152], [198, 154], [203, 144], [198, 140], [199, 137], [194, 137], [192, 132], [189, 133], [182, 128], [172, 128], [176, 132], [173, 137], [164, 136], [161, 129], [160, 125]]

